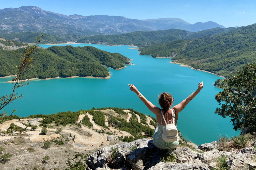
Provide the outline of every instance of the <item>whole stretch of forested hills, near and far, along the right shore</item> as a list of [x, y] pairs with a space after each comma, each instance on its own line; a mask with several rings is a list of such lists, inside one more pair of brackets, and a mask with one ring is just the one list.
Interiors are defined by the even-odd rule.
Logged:
[[192, 33], [184, 30], [133, 32], [86, 37], [77, 42], [133, 44], [140, 54], [172, 57], [172, 62], [229, 78], [256, 60], [256, 24], [239, 28], [215, 28]]

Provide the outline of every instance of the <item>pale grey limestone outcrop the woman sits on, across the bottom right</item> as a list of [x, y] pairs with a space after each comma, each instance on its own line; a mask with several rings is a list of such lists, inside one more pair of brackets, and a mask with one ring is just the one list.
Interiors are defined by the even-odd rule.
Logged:
[[[200, 145], [194, 151], [188, 147], [173, 150], [173, 162], [163, 162], [168, 150], [154, 146], [151, 139], [138, 139], [99, 149], [88, 157], [87, 170], [210, 170], [218, 166], [217, 159], [226, 158], [225, 166], [232, 170], [256, 168], [254, 150], [245, 148], [237, 153], [218, 151], [218, 143]], [[203, 152], [203, 150], [207, 150]], [[199, 153], [199, 152], [200, 153]], [[117, 154], [115, 154], [117, 153]]]

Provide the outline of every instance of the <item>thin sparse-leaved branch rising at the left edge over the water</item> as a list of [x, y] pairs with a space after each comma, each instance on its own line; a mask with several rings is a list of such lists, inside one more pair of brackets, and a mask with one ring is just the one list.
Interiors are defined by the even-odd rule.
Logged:
[[[23, 98], [23, 95], [17, 95], [17, 93], [15, 93], [15, 91], [19, 88], [19, 87], [23, 87], [24, 86], [24, 82], [20, 81], [20, 77], [21, 77], [21, 73], [29, 66], [31, 66], [31, 62], [33, 61], [33, 58], [30, 57], [30, 55], [36, 50], [36, 47], [38, 46], [38, 42], [40, 42], [40, 38], [43, 36], [40, 36], [39, 38], [35, 38], [36, 39], [36, 44], [34, 45], [27, 45], [26, 47], [26, 53], [22, 53], [20, 54], [20, 62], [21, 64], [18, 66], [19, 71], [17, 73], [17, 76], [13, 79], [13, 90], [12, 90], [12, 94], [10, 95], [4, 95], [0, 97], [0, 111], [8, 104], [12, 103], [14, 100], [16, 99], [21, 99]], [[28, 83], [26, 83], [28, 84]], [[13, 114], [16, 110], [13, 110], [11, 114]], [[7, 113], [5, 111], [3, 111], [3, 113], [0, 113], [0, 122], [2, 122], [2, 119], [7, 116]]]

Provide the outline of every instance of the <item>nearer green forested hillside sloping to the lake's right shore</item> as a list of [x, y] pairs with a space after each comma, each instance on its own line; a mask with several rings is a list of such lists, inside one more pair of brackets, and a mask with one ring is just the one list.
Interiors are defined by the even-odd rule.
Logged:
[[203, 39], [178, 40], [140, 48], [153, 57], [174, 56], [173, 62], [225, 77], [256, 60], [256, 24]]

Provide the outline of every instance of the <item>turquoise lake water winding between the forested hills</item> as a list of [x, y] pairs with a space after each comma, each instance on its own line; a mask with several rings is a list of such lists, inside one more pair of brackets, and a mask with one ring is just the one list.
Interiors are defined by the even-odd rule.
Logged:
[[[64, 46], [67, 44], [61, 44]], [[51, 114], [65, 111], [87, 110], [93, 107], [133, 108], [145, 115], [154, 116], [140, 101], [127, 84], [135, 85], [138, 90], [153, 104], [159, 107], [157, 96], [170, 92], [175, 98], [174, 105], [193, 93], [198, 82], [204, 82], [204, 88], [179, 114], [177, 128], [183, 137], [195, 144], [218, 140], [221, 135], [236, 136], [230, 119], [224, 119], [214, 113], [219, 107], [215, 95], [221, 89], [212, 84], [218, 76], [203, 71], [182, 67], [170, 63], [170, 58], [152, 58], [139, 55], [137, 49], [127, 45], [105, 46], [96, 44], [72, 44], [73, 46], [90, 45], [109, 52], [119, 52], [133, 61], [121, 70], [110, 69], [111, 78], [59, 78], [50, 80], [33, 80], [25, 87], [18, 89], [23, 99], [9, 104], [5, 111], [13, 109], [18, 116], [31, 114]], [[51, 45], [40, 45], [49, 47]], [[0, 78], [0, 96], [10, 94], [12, 84], [4, 83], [11, 78]]]

